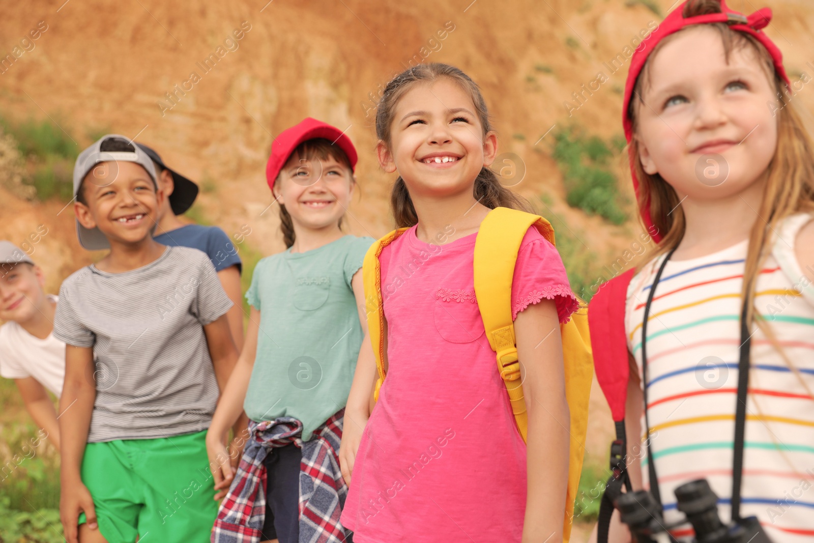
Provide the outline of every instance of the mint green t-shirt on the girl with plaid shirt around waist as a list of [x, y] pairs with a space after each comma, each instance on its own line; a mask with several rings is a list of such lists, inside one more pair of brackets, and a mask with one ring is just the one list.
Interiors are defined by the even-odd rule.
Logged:
[[243, 402], [248, 418], [298, 418], [307, 441], [345, 406], [363, 338], [351, 280], [373, 241], [346, 235], [257, 263], [246, 292], [260, 310], [257, 355]]

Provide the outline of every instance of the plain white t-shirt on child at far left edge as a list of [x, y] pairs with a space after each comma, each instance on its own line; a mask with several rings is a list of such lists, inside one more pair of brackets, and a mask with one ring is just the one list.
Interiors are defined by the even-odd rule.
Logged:
[[[48, 295], [57, 303], [59, 297]], [[49, 334], [39, 339], [16, 322], [0, 326], [0, 375], [6, 379], [33, 377], [57, 397], [65, 379], [65, 344]]]

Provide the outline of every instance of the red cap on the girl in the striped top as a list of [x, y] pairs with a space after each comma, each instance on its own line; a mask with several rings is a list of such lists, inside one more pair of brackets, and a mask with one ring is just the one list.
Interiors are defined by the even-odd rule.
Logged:
[[[746, 16], [727, 6], [725, 0], [720, 0], [721, 13], [710, 13], [707, 15], [698, 15], [697, 17], [688, 17], [685, 19], [684, 15], [681, 14], [688, 2], [683, 2], [681, 6], [676, 7], [676, 9], [671, 11], [667, 17], [664, 18], [662, 23], [659, 24], [658, 28], [656, 28], [641, 42], [641, 45], [638, 46], [633, 52], [633, 56], [630, 59], [630, 69], [628, 71], [628, 81], [624, 85], [624, 104], [622, 107], [624, 137], [627, 138], [628, 144], [631, 142], [633, 137], [632, 120], [628, 116], [628, 107], [632, 99], [633, 87], [636, 86], [636, 81], [641, 73], [641, 68], [644, 68], [647, 58], [650, 56], [650, 53], [654, 50], [655, 46], [659, 44], [659, 42], [670, 34], [676, 33], [682, 28], [686, 28], [692, 24], [726, 23], [729, 24], [729, 28], [737, 30], [737, 32], [746, 33], [755, 37], [755, 39], [760, 42], [760, 44], [764, 46], [766, 50], [768, 50], [769, 55], [772, 56], [774, 69], [777, 72], [777, 75], [779, 75], [783, 81], [786, 81], [786, 85], [789, 87], [791, 86], [789, 77], [786, 75], [786, 68], [783, 68], [782, 53], [777, 46], [774, 45], [774, 42], [772, 42], [772, 40], [769, 39], [765, 33], [760, 31], [761, 28], [766, 27], [772, 21], [772, 10], [770, 8], [764, 7], [763, 9], [755, 11], [755, 13]], [[633, 189], [636, 190], [638, 194], [639, 182], [636, 178], [636, 170], [633, 169], [633, 164], [635, 164], [633, 162], [634, 160], [638, 160], [638, 157], [630, 157], [630, 170], [633, 178]], [[645, 221], [645, 226], [648, 228], [648, 230], [652, 231], [653, 229], [650, 228], [653, 226], [653, 220], [650, 218], [650, 202], [646, 202], [645, 206], [639, 209], [639, 212], [641, 213], [642, 220]], [[660, 232], [651, 234], [651, 236], [656, 243], [658, 243], [662, 238]]]

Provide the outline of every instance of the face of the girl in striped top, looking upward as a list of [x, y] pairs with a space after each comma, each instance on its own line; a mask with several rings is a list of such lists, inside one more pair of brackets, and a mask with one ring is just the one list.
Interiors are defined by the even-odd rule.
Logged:
[[646, 173], [692, 199], [737, 195], [761, 177], [777, 147], [777, 91], [751, 46], [727, 63], [719, 33], [690, 28], [642, 77], [634, 137]]

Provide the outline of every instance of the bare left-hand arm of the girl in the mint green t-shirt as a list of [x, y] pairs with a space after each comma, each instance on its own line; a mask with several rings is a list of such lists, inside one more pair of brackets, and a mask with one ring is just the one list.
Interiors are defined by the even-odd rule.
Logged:
[[[260, 311], [252, 308], [249, 326], [246, 331], [246, 341], [243, 344], [243, 352], [240, 353], [237, 363], [234, 364], [234, 369], [231, 370], [231, 375], [228, 382], [225, 383], [225, 387], [221, 388], [221, 398], [217, 402], [217, 409], [215, 409], [215, 414], [212, 416], [212, 423], [209, 425], [209, 431], [206, 435], [209, 466], [212, 469], [212, 476], [215, 478], [215, 490], [218, 491], [215, 494], [216, 500], [220, 500], [225, 496], [234, 477], [234, 468], [225, 447], [226, 437], [229, 427], [235, 421], [239, 419], [247, 421], [246, 415], [243, 413], [243, 400], [246, 398], [249, 379], [252, 377], [259, 330]], [[214, 357], [212, 357], [212, 360], [214, 361]], [[243, 431], [245, 427], [246, 425], [244, 425]]]

